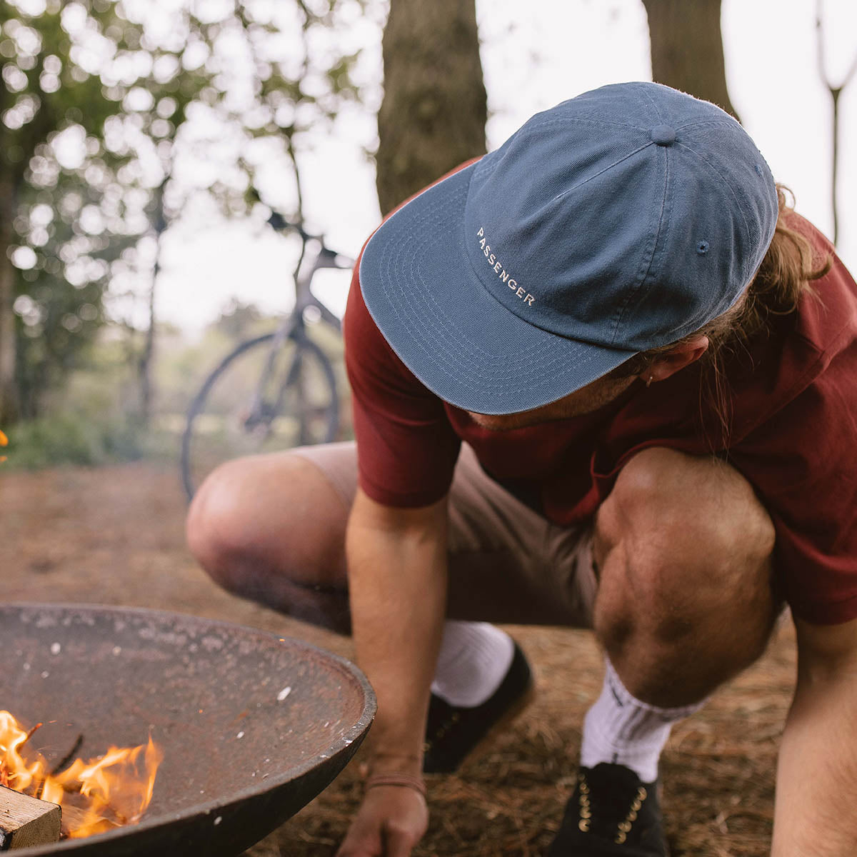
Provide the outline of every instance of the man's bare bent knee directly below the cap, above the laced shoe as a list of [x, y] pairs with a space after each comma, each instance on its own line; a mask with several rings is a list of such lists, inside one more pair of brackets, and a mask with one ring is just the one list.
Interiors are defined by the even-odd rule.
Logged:
[[770, 517], [728, 464], [640, 452], [596, 518], [596, 633], [608, 651], [698, 647], [724, 677], [736, 672], [764, 650], [778, 610], [773, 546]]

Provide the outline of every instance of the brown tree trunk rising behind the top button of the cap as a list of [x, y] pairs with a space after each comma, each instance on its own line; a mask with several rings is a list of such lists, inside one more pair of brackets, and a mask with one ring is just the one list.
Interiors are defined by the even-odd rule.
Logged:
[[712, 101], [739, 119], [726, 88], [720, 4], [643, 0], [649, 16], [651, 76], [657, 83]]

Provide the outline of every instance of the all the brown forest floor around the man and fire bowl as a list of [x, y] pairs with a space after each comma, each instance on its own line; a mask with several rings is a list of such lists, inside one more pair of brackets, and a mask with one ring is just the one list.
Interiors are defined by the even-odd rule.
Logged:
[[[175, 470], [153, 464], [3, 470], [0, 508], [6, 601], [176, 610], [351, 654], [348, 640], [240, 601], [208, 580], [184, 546]], [[536, 702], [459, 776], [430, 778], [432, 820], [417, 857], [536, 857], [557, 829], [572, 788], [580, 723], [600, 689], [600, 658], [584, 632], [508, 630], [536, 668]], [[793, 682], [794, 636], [784, 623], [755, 667], [674, 728], [661, 772], [675, 855], [768, 854], [776, 748]], [[352, 763], [245, 857], [332, 855], [359, 794]]]

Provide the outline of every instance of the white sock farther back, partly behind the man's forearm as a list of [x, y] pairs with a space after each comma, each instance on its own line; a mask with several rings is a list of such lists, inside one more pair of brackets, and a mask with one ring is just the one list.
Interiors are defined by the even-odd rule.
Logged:
[[446, 620], [432, 692], [450, 705], [481, 705], [506, 677], [512, 638], [488, 622]]

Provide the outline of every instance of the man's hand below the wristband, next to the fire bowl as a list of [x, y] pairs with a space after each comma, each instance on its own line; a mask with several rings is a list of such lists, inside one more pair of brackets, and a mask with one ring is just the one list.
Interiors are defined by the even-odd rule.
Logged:
[[337, 857], [409, 857], [428, 827], [422, 794], [406, 786], [375, 786], [363, 798]]

